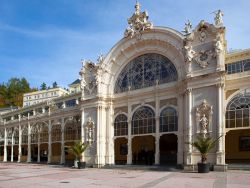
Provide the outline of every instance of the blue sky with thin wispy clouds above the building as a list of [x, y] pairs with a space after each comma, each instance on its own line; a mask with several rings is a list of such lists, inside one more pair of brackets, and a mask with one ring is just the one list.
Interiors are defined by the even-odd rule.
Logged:
[[[249, 0], [140, 0], [156, 26], [182, 31], [223, 10], [228, 49], [250, 48]], [[81, 59], [96, 61], [122, 37], [135, 0], [0, 0], [0, 83], [25, 77], [32, 87], [63, 87]]]

